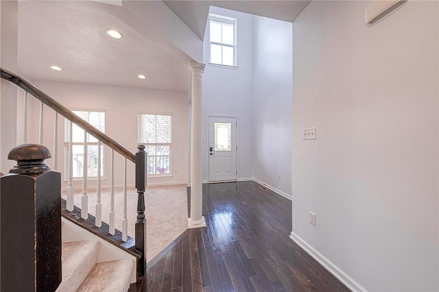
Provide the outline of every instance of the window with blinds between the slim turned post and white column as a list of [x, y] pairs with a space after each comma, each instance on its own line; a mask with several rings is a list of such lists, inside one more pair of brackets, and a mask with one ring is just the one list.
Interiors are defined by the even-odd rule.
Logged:
[[147, 173], [168, 175], [171, 164], [171, 114], [139, 114], [139, 144], [145, 144]]

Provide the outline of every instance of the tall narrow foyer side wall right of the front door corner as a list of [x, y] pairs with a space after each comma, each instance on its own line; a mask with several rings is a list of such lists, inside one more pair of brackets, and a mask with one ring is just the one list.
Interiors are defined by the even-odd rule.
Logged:
[[292, 193], [292, 46], [292, 23], [254, 16], [254, 178], [287, 197]]

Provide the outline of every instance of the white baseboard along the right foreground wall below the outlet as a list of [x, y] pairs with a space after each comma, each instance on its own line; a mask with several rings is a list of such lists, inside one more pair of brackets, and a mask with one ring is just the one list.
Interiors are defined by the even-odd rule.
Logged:
[[289, 238], [292, 239], [295, 243], [297, 243], [300, 247], [302, 247], [305, 252], [307, 252], [310, 256], [315, 258], [320, 265], [322, 265], [325, 269], [327, 269], [329, 272], [331, 272], [338, 280], [340, 280], [343, 284], [348, 287], [348, 289], [351, 289], [351, 291], [365, 291], [367, 290], [364, 287], [361, 287], [360, 284], [355, 282], [353, 278], [349, 277], [347, 273], [342, 271], [339, 267], [334, 265], [331, 260], [327, 259], [325, 256], [320, 254], [314, 247], [309, 245], [306, 241], [304, 241], [300, 236], [298, 236], [296, 233], [291, 232], [291, 235], [289, 235]]

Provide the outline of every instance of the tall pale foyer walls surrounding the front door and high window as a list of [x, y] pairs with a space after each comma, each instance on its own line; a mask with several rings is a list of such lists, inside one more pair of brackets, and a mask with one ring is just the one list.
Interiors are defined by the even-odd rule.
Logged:
[[[237, 19], [237, 68], [209, 65], [209, 25], [204, 36], [203, 117], [238, 117], [239, 180], [257, 180], [291, 197], [292, 24], [211, 8]], [[203, 180], [209, 151], [204, 143]], [[281, 175], [281, 180], [278, 180]]]

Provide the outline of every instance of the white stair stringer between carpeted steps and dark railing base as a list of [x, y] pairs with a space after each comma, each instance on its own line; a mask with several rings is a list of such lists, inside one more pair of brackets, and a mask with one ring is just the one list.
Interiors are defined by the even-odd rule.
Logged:
[[[62, 243], [67, 243], [71, 241], [99, 241], [100, 249], [96, 263], [103, 263], [112, 260], [124, 260], [124, 259], [131, 259], [134, 261], [134, 263], [136, 263], [137, 258], [135, 256], [132, 256], [132, 254], [129, 254], [128, 252], [124, 252], [119, 247], [115, 247], [115, 245], [112, 245], [111, 243], [108, 243], [108, 241], [105, 241], [104, 239], [100, 238], [99, 236], [96, 236], [95, 234], [88, 232], [88, 230], [81, 228], [77, 224], [69, 221], [68, 219], [61, 217], [61, 222], [63, 226]], [[134, 267], [135, 266], [136, 265], [134, 265]], [[136, 269], [133, 269], [131, 280], [130, 280], [131, 283], [136, 282], [136, 273], [137, 273]]]

